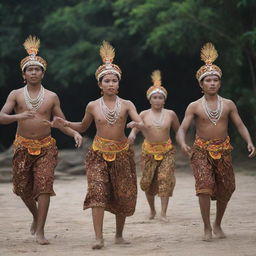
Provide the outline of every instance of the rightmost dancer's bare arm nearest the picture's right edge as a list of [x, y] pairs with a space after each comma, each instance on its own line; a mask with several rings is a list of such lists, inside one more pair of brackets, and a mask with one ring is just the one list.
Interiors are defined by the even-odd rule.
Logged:
[[230, 106], [230, 110], [231, 110], [230, 111], [230, 119], [236, 126], [236, 128], [237, 128], [238, 132], [240, 133], [240, 135], [242, 136], [242, 138], [246, 141], [247, 149], [250, 153], [249, 157], [253, 157], [255, 155], [255, 147], [252, 143], [250, 133], [249, 133], [248, 129], [246, 128], [246, 126], [244, 125], [240, 115], [238, 114], [237, 107], [234, 104], [234, 102], [230, 101], [229, 106]]

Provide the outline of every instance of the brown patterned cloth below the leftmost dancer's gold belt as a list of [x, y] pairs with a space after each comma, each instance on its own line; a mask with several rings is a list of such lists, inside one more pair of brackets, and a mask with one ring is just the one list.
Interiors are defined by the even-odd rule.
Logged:
[[23, 198], [37, 199], [40, 194], [55, 195], [54, 169], [58, 150], [55, 143], [31, 155], [22, 145], [15, 145], [13, 156], [13, 192]]

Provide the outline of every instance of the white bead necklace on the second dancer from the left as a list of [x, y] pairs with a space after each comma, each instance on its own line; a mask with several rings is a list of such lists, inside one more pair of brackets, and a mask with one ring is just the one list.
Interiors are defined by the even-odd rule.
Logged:
[[104, 102], [103, 97], [100, 98], [101, 112], [109, 124], [113, 125], [117, 121], [121, 112], [121, 105], [122, 104], [121, 104], [120, 98], [116, 96], [115, 107], [111, 110], [108, 108], [108, 106]]

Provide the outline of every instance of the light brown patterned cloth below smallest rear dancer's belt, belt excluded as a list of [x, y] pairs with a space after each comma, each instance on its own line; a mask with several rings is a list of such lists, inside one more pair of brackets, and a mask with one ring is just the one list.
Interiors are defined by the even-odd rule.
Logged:
[[162, 160], [155, 160], [154, 155], [142, 152], [140, 187], [150, 195], [172, 196], [176, 179], [174, 176], [174, 149], [163, 154]]

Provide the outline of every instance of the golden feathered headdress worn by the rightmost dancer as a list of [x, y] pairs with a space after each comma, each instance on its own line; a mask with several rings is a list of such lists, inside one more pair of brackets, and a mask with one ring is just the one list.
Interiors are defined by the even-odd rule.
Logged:
[[217, 75], [221, 78], [221, 69], [217, 65], [213, 64], [217, 58], [218, 52], [214, 45], [212, 43], [206, 43], [201, 49], [201, 60], [205, 62], [205, 65], [196, 72], [196, 79], [198, 82], [209, 75]]

